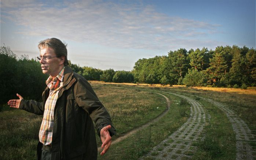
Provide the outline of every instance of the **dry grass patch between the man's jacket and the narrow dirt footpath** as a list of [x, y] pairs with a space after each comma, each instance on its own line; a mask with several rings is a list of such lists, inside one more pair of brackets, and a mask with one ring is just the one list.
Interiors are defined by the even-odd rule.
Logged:
[[119, 134], [126, 133], [156, 118], [166, 108], [159, 94], [136, 89], [93, 83], [92, 88], [110, 113]]

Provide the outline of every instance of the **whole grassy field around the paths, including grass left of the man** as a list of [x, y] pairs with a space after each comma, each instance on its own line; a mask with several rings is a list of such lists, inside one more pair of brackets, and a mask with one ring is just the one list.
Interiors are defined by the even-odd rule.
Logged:
[[[113, 140], [142, 124], [150, 122], [166, 108], [166, 100], [154, 92], [179, 92], [228, 104], [245, 120], [256, 134], [256, 94], [227, 92], [225, 89], [204, 90], [202, 88], [160, 87], [134, 84], [108, 84], [92, 82], [100, 101], [109, 111], [117, 135]], [[151, 124], [114, 145], [98, 159], [139, 159], [154, 146], [177, 130], [189, 118], [190, 105], [182, 98], [167, 93], [171, 101], [168, 113], [158, 122]], [[235, 135], [226, 115], [216, 106], [199, 99], [211, 115], [205, 127], [205, 139], [195, 144], [197, 151], [192, 159], [235, 159]], [[174, 103], [175, 102], [175, 103]], [[179, 103], [176, 103], [179, 102]], [[41, 116], [19, 109], [4, 107], [0, 112], [0, 159], [35, 159]], [[100, 140], [97, 139], [98, 145]], [[255, 145], [255, 144], [252, 144]], [[255, 147], [253, 148], [255, 149]]]

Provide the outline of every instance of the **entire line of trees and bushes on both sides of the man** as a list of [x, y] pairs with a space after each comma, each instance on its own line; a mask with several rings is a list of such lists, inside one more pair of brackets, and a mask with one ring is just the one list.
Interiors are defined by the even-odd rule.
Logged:
[[[40, 66], [37, 59], [29, 59], [26, 55], [17, 57], [10, 47], [1, 46], [0, 104], [15, 98], [16, 93], [24, 98], [40, 100], [48, 78]], [[256, 86], [256, 50], [246, 46], [217, 46], [214, 51], [180, 48], [169, 51], [166, 56], [139, 59], [132, 71], [80, 67], [70, 61], [69, 66], [87, 80], [104, 82], [234, 88]]]

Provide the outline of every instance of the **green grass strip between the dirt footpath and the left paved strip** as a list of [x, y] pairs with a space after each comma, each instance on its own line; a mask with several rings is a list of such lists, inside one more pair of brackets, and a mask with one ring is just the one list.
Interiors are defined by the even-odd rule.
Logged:
[[[181, 98], [165, 94], [171, 101], [181, 101]], [[182, 108], [182, 111], [180, 110]], [[183, 114], [183, 111], [186, 114]], [[142, 129], [130, 137], [111, 146], [108, 153], [104, 156], [98, 156], [99, 160], [128, 160], [139, 159], [139, 157], [149, 152], [155, 145], [163, 141], [166, 137], [177, 130], [189, 117], [189, 105], [172, 103], [171, 108], [164, 117], [157, 123]]]

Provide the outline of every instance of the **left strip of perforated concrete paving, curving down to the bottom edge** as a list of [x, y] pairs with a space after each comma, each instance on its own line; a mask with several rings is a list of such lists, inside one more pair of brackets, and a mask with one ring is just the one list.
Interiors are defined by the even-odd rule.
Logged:
[[[167, 92], [165, 92], [167, 93]], [[193, 155], [193, 143], [202, 137], [202, 131], [210, 117], [202, 104], [181, 94], [169, 93], [186, 99], [190, 104], [190, 118], [167, 139], [155, 146], [142, 159], [188, 159]]]

